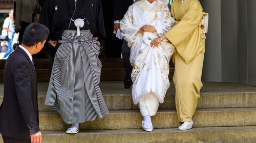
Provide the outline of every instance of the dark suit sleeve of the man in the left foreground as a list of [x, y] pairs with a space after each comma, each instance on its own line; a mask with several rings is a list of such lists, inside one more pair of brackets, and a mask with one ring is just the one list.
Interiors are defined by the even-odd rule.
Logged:
[[29, 133], [34, 134], [39, 130], [37, 116], [35, 115], [32, 102], [32, 76], [27, 62], [20, 62], [13, 70], [14, 86], [23, 119], [28, 127]]

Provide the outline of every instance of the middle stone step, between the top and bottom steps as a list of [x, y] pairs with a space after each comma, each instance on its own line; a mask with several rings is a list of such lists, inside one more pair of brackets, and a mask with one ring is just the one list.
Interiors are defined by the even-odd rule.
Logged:
[[[140, 129], [143, 120], [139, 110], [111, 110], [109, 115], [98, 120], [80, 124], [81, 130]], [[209, 108], [197, 109], [193, 127], [256, 126], [254, 108]], [[176, 110], [158, 110], [152, 117], [154, 128], [177, 128]], [[70, 127], [57, 112], [40, 112], [39, 126], [42, 131], [66, 130]]]

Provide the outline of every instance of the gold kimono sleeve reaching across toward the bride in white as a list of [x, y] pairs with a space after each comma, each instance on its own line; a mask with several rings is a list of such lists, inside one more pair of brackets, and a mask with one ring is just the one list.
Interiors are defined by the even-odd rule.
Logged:
[[[173, 8], [172, 8], [173, 11]], [[184, 41], [199, 26], [203, 17], [203, 9], [199, 2], [192, 3], [180, 22], [164, 33], [165, 37], [175, 46]]]

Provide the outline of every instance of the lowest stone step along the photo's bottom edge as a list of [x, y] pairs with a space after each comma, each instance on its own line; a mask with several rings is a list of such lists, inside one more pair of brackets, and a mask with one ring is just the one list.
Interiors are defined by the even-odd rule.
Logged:
[[[2, 138], [2, 137], [1, 137]], [[0, 143], [3, 140], [0, 138]], [[165, 143], [165, 142], [204, 142], [204, 143], [238, 143], [256, 142], [256, 126], [246, 127], [206, 127], [193, 128], [187, 131], [177, 129], [154, 129], [153, 132], [145, 132], [142, 129], [125, 130], [90, 130], [80, 131], [78, 134], [66, 134], [65, 131], [43, 131], [42, 142], [44, 143]]]

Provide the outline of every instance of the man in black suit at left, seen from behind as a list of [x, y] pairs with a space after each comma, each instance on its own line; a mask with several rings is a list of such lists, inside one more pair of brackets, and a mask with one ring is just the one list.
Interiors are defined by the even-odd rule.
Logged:
[[6, 61], [4, 99], [0, 107], [0, 132], [4, 142], [41, 142], [32, 54], [44, 47], [48, 35], [49, 30], [45, 25], [28, 25], [22, 45]]

